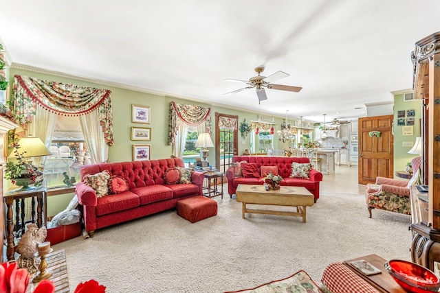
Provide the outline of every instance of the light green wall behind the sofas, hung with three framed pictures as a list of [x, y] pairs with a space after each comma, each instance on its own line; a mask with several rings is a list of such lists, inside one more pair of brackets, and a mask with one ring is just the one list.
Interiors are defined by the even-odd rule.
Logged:
[[[111, 105], [113, 110], [113, 134], [114, 145], [109, 147], [109, 161], [132, 161], [133, 158], [133, 145], [135, 144], [151, 144], [151, 159], [164, 159], [169, 158], [173, 153], [171, 145], [168, 145], [168, 113], [170, 108], [170, 102], [175, 101], [184, 104], [193, 104], [199, 106], [211, 107], [211, 118], [214, 123], [215, 113], [222, 113], [228, 115], [238, 115], [239, 124], [246, 119], [246, 121], [256, 120], [257, 113], [246, 112], [245, 110], [236, 110], [227, 107], [214, 106], [210, 104], [203, 104], [201, 102], [195, 102], [193, 100], [177, 99], [175, 97], [155, 95], [151, 93], [144, 93], [140, 91], [133, 91], [130, 89], [120, 89], [114, 86], [107, 86], [104, 84], [98, 84], [94, 82], [87, 82], [76, 78], [65, 78], [59, 75], [52, 75], [50, 73], [41, 73], [10, 68], [10, 89], [14, 82], [14, 75], [27, 75], [34, 78], [41, 78], [45, 80], [54, 80], [57, 82], [64, 82], [68, 84], [78, 84], [81, 86], [93, 86], [99, 89], [111, 90]], [[10, 91], [12, 93], [12, 91]], [[132, 104], [150, 106], [151, 110], [151, 123], [150, 124], [137, 124], [131, 122], [131, 108]], [[283, 123], [281, 117], [274, 117], [274, 123], [278, 124], [275, 129], [280, 128]], [[214, 124], [213, 124], [214, 125]], [[151, 128], [151, 141], [131, 141], [131, 127], [150, 127]], [[212, 134], [212, 140], [215, 141], [215, 133]], [[278, 139], [274, 141], [274, 147], [278, 148]], [[242, 154], [245, 149], [250, 149], [250, 135], [243, 139], [239, 132], [238, 141], [238, 154]], [[280, 142], [279, 148], [283, 148], [283, 142]], [[214, 150], [210, 150], [208, 161], [213, 162], [215, 159]], [[8, 183], [5, 183], [8, 184]], [[48, 215], [54, 215], [59, 211], [63, 211], [69, 200], [72, 199], [74, 194], [70, 196], [51, 196], [48, 201]], [[55, 199], [56, 198], [56, 199]]]

